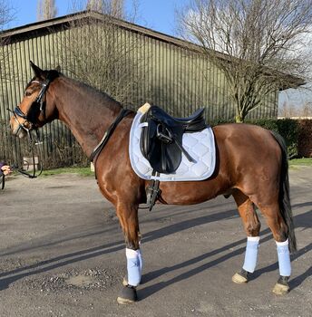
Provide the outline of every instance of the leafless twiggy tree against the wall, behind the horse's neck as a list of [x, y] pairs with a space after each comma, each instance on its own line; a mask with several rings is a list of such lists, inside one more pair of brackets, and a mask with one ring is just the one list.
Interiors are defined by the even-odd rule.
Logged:
[[141, 36], [122, 31], [120, 20], [109, 14], [93, 14], [75, 20], [60, 38], [65, 71], [104, 91], [124, 105], [138, 104], [147, 57], [141, 58]]

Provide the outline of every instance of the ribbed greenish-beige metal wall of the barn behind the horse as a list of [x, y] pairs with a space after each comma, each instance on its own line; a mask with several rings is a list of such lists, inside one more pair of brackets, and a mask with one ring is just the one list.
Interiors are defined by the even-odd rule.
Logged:
[[[94, 27], [95, 25], [95, 27]], [[11, 38], [11, 43], [1, 47], [0, 116], [1, 135], [0, 158], [9, 162], [21, 161], [27, 154], [27, 142], [13, 138], [9, 132], [8, 120], [15, 105], [23, 98], [24, 86], [32, 78], [29, 61], [44, 69], [61, 66], [63, 73], [79, 79], [79, 72], [73, 69], [77, 60], [71, 55], [71, 41], [83, 36], [85, 28], [96, 32], [99, 49], [104, 45], [102, 32], [104, 25], [96, 24], [77, 27], [37, 28]], [[213, 68], [200, 54], [175, 43], [166, 42], [157, 36], [133, 32], [119, 28], [114, 41], [122, 41], [126, 53], [124, 64], [132, 60], [132, 82], [127, 89], [123, 104], [137, 109], [148, 101], [161, 106], [171, 115], [185, 117], [200, 107], [206, 108], [208, 120], [229, 120], [235, 110], [229, 99], [229, 91], [223, 74]], [[81, 47], [83, 43], [81, 39]], [[133, 45], [133, 43], [135, 43]], [[73, 47], [73, 45], [72, 45]], [[129, 49], [132, 47], [132, 49]], [[90, 56], [90, 58], [96, 58]], [[122, 63], [121, 63], [122, 64]], [[76, 66], [74, 66], [76, 65]], [[86, 63], [86, 66], [87, 63]], [[269, 95], [264, 105], [251, 112], [249, 118], [271, 118], [277, 116], [278, 92]], [[43, 129], [44, 166], [60, 167], [86, 164], [79, 145], [69, 130], [59, 121], [47, 124]]]

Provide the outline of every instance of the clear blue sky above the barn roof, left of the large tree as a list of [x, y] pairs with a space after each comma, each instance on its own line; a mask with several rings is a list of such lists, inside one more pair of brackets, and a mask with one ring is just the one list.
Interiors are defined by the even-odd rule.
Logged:
[[[136, 23], [164, 34], [174, 35], [174, 10], [187, 2], [187, 0], [139, 0], [139, 18]], [[8, 27], [36, 22], [37, 3], [38, 0], [11, 0], [15, 9], [15, 19]], [[58, 16], [70, 13], [71, 0], [56, 0], [55, 3]], [[126, 0], [126, 5], [131, 3], [131, 0]]]

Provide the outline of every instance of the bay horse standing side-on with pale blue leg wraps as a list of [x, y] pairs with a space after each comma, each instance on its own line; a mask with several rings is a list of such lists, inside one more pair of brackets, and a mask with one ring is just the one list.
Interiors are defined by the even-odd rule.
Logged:
[[[105, 131], [122, 111], [119, 102], [100, 91], [64, 76], [58, 70], [44, 71], [31, 62], [34, 78], [26, 85], [24, 98], [10, 119], [12, 133], [23, 138], [25, 131], [62, 120], [90, 158]], [[93, 163], [102, 195], [116, 208], [125, 239], [127, 275], [118, 303], [137, 301], [142, 256], [138, 207], [146, 202], [149, 181], [132, 170], [128, 147], [135, 113], [127, 112]], [[296, 250], [289, 202], [288, 158], [284, 140], [269, 130], [247, 124], [224, 124], [213, 128], [217, 166], [201, 181], [161, 182], [162, 204], [191, 205], [213, 197], [233, 196], [247, 234], [245, 261], [233, 275], [235, 283], [247, 283], [255, 270], [260, 223], [256, 207], [266, 218], [277, 244], [277, 294], [288, 293], [290, 252]]]

